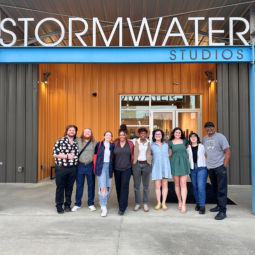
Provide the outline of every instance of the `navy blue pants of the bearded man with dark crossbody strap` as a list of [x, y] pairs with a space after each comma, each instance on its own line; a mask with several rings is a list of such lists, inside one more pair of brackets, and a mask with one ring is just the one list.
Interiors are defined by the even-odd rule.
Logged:
[[95, 175], [93, 173], [93, 168], [94, 168], [93, 163], [89, 165], [84, 165], [82, 163], [78, 164], [78, 171], [77, 171], [77, 177], [76, 177], [76, 196], [75, 196], [76, 206], [81, 206], [85, 176], [87, 178], [87, 184], [88, 184], [88, 206], [94, 205]]

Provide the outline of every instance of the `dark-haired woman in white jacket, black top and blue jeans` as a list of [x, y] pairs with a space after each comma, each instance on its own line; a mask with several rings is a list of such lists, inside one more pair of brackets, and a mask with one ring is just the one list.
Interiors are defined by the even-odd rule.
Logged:
[[186, 149], [189, 164], [190, 178], [193, 186], [193, 192], [196, 199], [195, 210], [199, 214], [205, 213], [206, 181], [207, 167], [205, 159], [205, 148], [201, 144], [200, 138], [196, 133], [189, 135], [189, 146]]

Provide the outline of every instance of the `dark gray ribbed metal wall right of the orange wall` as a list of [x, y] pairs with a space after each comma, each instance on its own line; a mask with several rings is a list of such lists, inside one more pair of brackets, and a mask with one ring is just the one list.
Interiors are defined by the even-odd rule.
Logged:
[[218, 132], [230, 144], [229, 184], [251, 184], [248, 64], [217, 64]]

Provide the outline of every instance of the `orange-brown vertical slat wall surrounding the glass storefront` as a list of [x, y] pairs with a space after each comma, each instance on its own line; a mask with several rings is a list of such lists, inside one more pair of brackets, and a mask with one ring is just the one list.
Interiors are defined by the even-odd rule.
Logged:
[[[209, 85], [205, 71], [216, 79], [216, 64], [39, 65], [38, 181], [50, 175], [53, 145], [67, 125], [76, 125], [78, 135], [89, 127], [97, 140], [106, 130], [117, 136], [120, 94], [201, 94], [202, 123], [217, 126], [216, 84]], [[45, 72], [51, 73], [47, 84]]]

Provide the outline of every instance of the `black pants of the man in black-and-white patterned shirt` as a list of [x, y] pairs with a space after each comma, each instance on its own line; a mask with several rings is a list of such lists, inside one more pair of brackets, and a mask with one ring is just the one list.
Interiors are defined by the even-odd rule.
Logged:
[[62, 207], [64, 203], [65, 193], [65, 205], [71, 205], [71, 197], [73, 192], [73, 185], [76, 179], [77, 167], [63, 167], [55, 166], [56, 175], [56, 207]]

